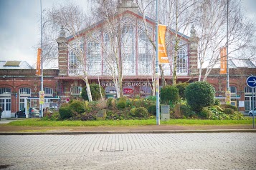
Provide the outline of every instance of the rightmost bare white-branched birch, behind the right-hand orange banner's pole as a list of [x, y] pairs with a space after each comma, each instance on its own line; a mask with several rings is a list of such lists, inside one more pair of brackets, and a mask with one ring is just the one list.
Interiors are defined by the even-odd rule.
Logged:
[[[240, 51], [250, 48], [255, 27], [252, 22], [245, 21], [238, 1], [207, 0], [199, 1], [199, 13], [196, 30], [199, 36], [199, 81], [203, 81], [219, 62], [219, 51], [222, 46], [229, 46], [229, 59]], [[227, 32], [227, 14], [229, 16], [229, 31]], [[227, 36], [229, 37], [227, 42]], [[242, 56], [245, 59], [245, 56]], [[237, 58], [237, 57], [236, 57]], [[202, 75], [202, 68], [207, 71]]]

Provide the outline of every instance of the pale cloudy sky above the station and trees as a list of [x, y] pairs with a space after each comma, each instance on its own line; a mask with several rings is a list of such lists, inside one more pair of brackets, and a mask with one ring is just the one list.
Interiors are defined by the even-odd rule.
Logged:
[[[67, 0], [42, 0], [42, 8], [62, 1]], [[86, 8], [90, 0], [75, 1]], [[242, 0], [242, 4], [247, 16], [256, 22], [256, 0]], [[35, 66], [39, 23], [40, 0], [0, 0], [0, 61], [24, 60]]]

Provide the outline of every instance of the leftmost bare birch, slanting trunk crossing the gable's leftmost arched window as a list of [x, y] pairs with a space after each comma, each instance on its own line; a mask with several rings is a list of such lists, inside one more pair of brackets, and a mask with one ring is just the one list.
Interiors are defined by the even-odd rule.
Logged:
[[70, 35], [71, 41], [67, 44], [70, 59], [70, 74], [80, 76], [85, 81], [89, 101], [92, 101], [90, 93], [90, 84], [87, 79], [87, 70], [85, 67], [84, 39], [81, 38], [81, 30], [90, 24], [90, 18], [82, 11], [80, 6], [75, 4], [59, 4], [47, 11], [49, 29], [56, 29], [63, 26]]

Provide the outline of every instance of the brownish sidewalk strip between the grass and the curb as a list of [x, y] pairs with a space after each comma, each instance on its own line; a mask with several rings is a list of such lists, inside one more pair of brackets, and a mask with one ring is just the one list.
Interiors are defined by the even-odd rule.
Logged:
[[[10, 121], [1, 119], [0, 124]], [[0, 135], [8, 134], [163, 134], [256, 132], [252, 125], [148, 125], [148, 126], [0, 126]]]

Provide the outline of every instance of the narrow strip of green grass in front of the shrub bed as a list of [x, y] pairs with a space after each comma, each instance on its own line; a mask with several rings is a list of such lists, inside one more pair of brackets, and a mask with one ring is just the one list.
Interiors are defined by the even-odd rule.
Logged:
[[[199, 120], [199, 119], [171, 119], [161, 121], [166, 125], [235, 125], [252, 124], [252, 119], [246, 120]], [[42, 121], [41, 119], [23, 119], [11, 121], [1, 126], [145, 126], [156, 125], [156, 119], [148, 120], [118, 120], [118, 121]]]

